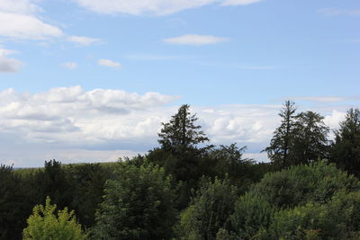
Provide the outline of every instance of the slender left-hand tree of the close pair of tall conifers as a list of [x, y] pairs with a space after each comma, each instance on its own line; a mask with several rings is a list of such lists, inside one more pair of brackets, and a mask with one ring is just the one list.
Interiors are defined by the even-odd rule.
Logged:
[[277, 168], [284, 168], [290, 165], [290, 148], [293, 141], [293, 130], [295, 129], [295, 103], [286, 101], [281, 109], [279, 116], [282, 118], [281, 125], [275, 129], [274, 137], [270, 141], [270, 146], [263, 151], [267, 152], [270, 160]]

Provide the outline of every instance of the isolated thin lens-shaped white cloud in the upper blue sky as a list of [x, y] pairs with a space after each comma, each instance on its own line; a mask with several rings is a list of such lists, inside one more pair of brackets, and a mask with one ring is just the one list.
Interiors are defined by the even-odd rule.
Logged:
[[202, 46], [216, 44], [227, 40], [229, 39], [210, 35], [187, 34], [180, 37], [165, 39], [163, 41], [170, 44]]

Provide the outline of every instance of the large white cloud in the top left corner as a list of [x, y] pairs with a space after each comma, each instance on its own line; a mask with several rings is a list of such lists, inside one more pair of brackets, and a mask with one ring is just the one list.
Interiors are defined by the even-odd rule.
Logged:
[[[40, 10], [30, 0], [0, 0], [0, 36], [21, 40], [45, 40], [59, 37], [58, 27], [43, 22], [36, 15]], [[6, 23], [4, 23], [6, 22]]]

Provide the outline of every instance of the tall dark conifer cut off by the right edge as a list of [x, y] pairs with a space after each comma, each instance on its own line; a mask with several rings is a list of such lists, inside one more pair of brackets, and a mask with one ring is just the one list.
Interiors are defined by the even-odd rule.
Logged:
[[348, 173], [360, 177], [360, 110], [350, 109], [335, 131], [335, 142], [331, 146], [331, 161]]

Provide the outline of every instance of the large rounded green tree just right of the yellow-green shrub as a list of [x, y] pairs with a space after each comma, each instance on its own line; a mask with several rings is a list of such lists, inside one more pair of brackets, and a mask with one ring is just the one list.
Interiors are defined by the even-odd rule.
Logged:
[[171, 177], [152, 164], [120, 164], [106, 182], [94, 239], [169, 239], [175, 223]]

